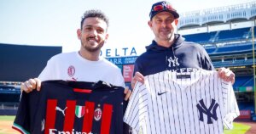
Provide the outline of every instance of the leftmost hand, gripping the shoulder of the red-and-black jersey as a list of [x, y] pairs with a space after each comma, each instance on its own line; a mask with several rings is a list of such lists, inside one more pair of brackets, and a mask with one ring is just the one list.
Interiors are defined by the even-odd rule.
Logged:
[[41, 88], [41, 81], [38, 78], [29, 79], [28, 81], [25, 81], [20, 86], [20, 91], [24, 91], [26, 93], [32, 92], [33, 89], [37, 89], [40, 91]]

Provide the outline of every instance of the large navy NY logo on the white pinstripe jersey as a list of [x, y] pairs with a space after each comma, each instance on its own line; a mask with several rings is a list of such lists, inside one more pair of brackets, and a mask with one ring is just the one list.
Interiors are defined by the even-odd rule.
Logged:
[[209, 109], [207, 109], [207, 107], [202, 99], [199, 101], [199, 103], [196, 104], [196, 107], [200, 113], [199, 120], [204, 121], [203, 114], [207, 114], [207, 124], [212, 124], [212, 119], [218, 120], [218, 117], [216, 114], [216, 110], [218, 108], [218, 103], [215, 103], [214, 99], [212, 99]]

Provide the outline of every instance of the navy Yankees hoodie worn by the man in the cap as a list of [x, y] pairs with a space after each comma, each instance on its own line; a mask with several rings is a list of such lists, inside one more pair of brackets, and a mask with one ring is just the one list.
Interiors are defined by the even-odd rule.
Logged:
[[200, 44], [185, 42], [176, 34], [171, 47], [161, 47], [153, 40], [147, 51], [135, 62], [135, 72], [152, 75], [164, 70], [188, 72], [195, 69], [214, 70], [207, 51]]

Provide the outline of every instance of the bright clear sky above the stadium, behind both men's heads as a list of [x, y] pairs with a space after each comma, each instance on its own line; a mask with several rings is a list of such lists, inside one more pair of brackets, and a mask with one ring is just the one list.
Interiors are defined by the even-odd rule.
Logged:
[[[148, 14], [156, 0], [0, 0], [0, 42], [62, 46], [79, 50], [76, 35], [82, 14], [96, 8], [110, 20], [105, 47], [144, 49], [153, 39]], [[178, 13], [223, 7], [252, 0], [171, 0]]]

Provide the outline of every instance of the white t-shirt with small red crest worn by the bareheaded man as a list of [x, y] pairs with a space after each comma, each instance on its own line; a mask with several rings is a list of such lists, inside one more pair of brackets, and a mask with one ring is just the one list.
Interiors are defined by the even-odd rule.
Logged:
[[49, 59], [38, 76], [41, 81], [106, 81], [114, 86], [125, 87], [125, 80], [119, 68], [100, 57], [98, 61], [82, 58], [79, 52], [60, 53]]

